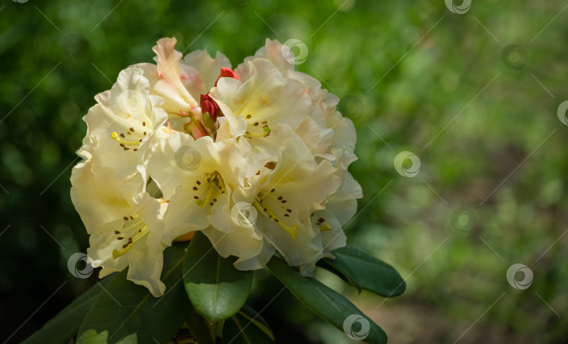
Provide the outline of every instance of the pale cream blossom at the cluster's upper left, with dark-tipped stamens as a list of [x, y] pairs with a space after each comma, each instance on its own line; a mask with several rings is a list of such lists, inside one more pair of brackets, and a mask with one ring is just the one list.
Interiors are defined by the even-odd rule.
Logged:
[[163, 126], [168, 116], [161, 109], [163, 100], [149, 95], [149, 82], [139, 68], [119, 74], [111, 90], [95, 97], [98, 104], [83, 117], [88, 130], [79, 155], [92, 156], [93, 169], [109, 167], [116, 179], [137, 173], [148, 149], [167, 136]]

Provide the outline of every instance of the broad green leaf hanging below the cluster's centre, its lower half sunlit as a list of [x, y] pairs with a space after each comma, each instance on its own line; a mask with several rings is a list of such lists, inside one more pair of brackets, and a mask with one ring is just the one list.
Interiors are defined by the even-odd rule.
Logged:
[[210, 322], [234, 315], [245, 304], [252, 271], [237, 270], [235, 257], [217, 254], [209, 239], [196, 232], [184, 258], [184, 284], [194, 308]]

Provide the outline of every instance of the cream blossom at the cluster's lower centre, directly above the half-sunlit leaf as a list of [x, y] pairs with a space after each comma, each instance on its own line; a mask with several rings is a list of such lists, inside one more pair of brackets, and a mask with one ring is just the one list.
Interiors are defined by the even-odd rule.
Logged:
[[164, 139], [150, 158], [148, 171], [170, 203], [165, 213], [168, 235], [216, 228], [232, 247], [217, 245], [222, 256], [257, 252], [262, 244], [259, 233], [254, 228], [236, 231], [239, 228], [231, 220], [232, 196], [244, 186], [246, 170], [241, 149], [231, 140], [194, 139], [182, 132]]

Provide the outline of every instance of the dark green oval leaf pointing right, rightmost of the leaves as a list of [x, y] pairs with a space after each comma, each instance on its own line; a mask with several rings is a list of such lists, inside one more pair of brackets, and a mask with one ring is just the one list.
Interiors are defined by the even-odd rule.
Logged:
[[[324, 259], [325, 263], [334, 268], [327, 269], [332, 273], [339, 271], [348, 282], [357, 289], [365, 289], [385, 297], [393, 297], [403, 294], [406, 283], [403, 277], [390, 265], [374, 258], [370, 254], [347, 245], [335, 249], [335, 259]], [[321, 265], [326, 268], [325, 265]]]

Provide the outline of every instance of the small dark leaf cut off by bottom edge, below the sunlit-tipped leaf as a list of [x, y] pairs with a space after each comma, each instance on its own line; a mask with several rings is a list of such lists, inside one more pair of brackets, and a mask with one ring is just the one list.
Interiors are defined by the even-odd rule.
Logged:
[[226, 319], [223, 325], [223, 343], [255, 344], [275, 343], [274, 335], [266, 320], [255, 310], [243, 306], [236, 315]]

